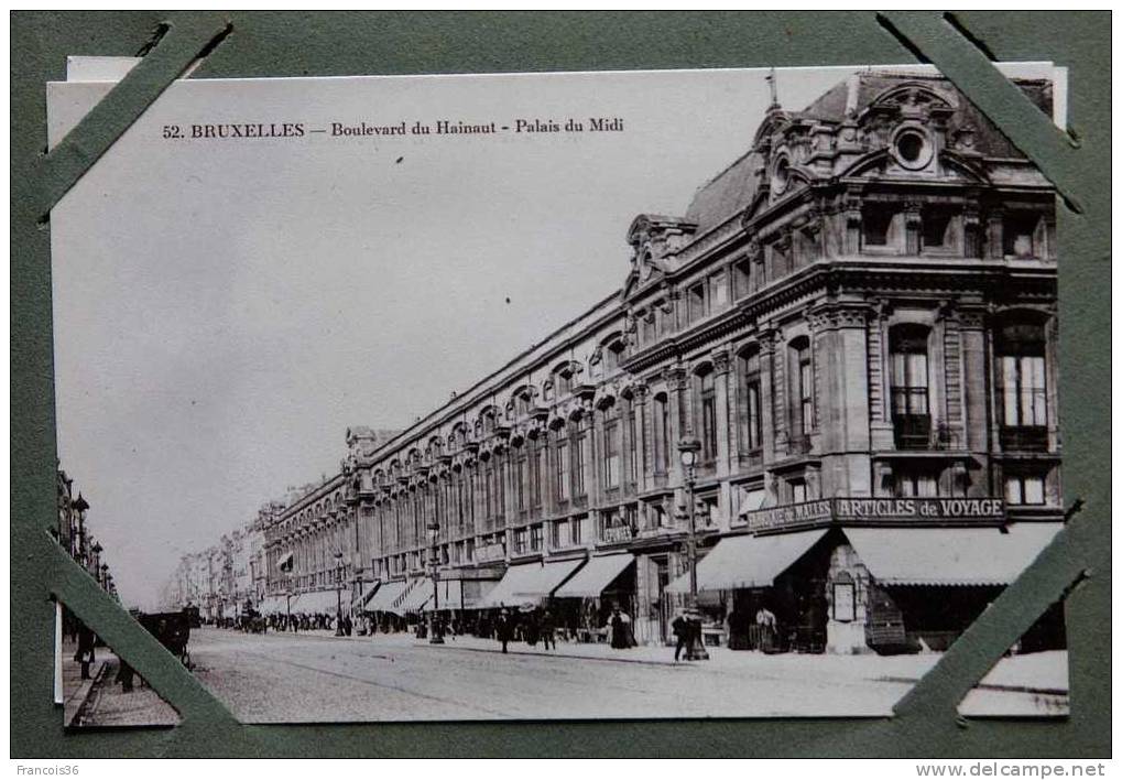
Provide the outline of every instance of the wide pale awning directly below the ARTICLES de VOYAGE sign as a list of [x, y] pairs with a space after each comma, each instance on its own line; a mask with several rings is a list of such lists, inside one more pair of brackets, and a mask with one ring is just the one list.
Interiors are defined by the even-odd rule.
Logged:
[[857, 558], [881, 585], [1009, 585], [1061, 523], [1001, 529], [844, 529]]

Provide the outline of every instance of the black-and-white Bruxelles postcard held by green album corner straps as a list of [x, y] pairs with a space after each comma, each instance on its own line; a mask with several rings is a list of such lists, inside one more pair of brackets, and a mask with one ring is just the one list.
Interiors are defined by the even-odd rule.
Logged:
[[[177, 81], [50, 213], [58, 542], [242, 723], [891, 716], [1064, 526], [1056, 204], [931, 66]], [[959, 712], [1070, 706], [1057, 603]]]

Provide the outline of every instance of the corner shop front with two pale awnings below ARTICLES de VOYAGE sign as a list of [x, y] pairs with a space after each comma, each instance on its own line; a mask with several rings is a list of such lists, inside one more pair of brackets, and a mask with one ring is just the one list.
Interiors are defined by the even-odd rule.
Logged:
[[[1059, 523], [831, 524], [732, 535], [719, 540], [698, 563], [697, 588], [699, 598], [718, 593], [727, 598], [725, 628], [733, 649], [843, 654], [940, 651], [1017, 579], [1060, 527]], [[688, 594], [689, 573], [666, 590]]]

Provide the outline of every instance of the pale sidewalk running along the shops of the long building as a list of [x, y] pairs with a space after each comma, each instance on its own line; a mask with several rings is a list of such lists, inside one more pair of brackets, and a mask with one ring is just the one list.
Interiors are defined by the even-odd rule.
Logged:
[[[274, 634], [274, 632], [270, 632]], [[471, 635], [445, 636], [444, 644], [430, 644], [412, 633], [375, 634], [374, 636], [335, 636], [332, 631], [307, 631], [298, 634], [280, 632], [280, 636], [307, 636], [323, 640], [367, 642], [384, 648], [429, 646], [433, 650], [461, 650], [471, 652], [502, 653], [496, 640]], [[541, 644], [530, 646], [525, 642], [511, 642], [507, 652], [514, 655], [552, 655], [557, 658], [587, 659], [607, 663], [642, 663], [652, 666], [698, 668], [712, 671], [751, 675], [756, 677], [782, 678], [790, 676], [825, 677], [829, 679], [874, 680], [891, 682], [917, 682], [942, 657], [941, 653], [916, 655], [810, 655], [800, 653], [778, 653], [767, 655], [757, 651], [729, 650], [728, 648], [706, 648], [708, 661], [674, 662], [674, 649], [670, 646], [638, 646], [617, 650], [605, 643], [583, 644], [558, 642], [557, 650], [544, 650]], [[1067, 653], [1049, 651], [1028, 655], [1012, 655], [1002, 659], [982, 680], [980, 687], [992, 690], [1033, 691], [1043, 694], [1067, 694]]]

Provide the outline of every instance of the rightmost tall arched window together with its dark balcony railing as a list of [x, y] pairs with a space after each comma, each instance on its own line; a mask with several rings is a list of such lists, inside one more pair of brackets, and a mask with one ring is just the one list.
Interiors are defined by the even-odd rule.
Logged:
[[1006, 450], [1048, 447], [1045, 329], [1031, 320], [1005, 322], [995, 339], [1001, 440]]

